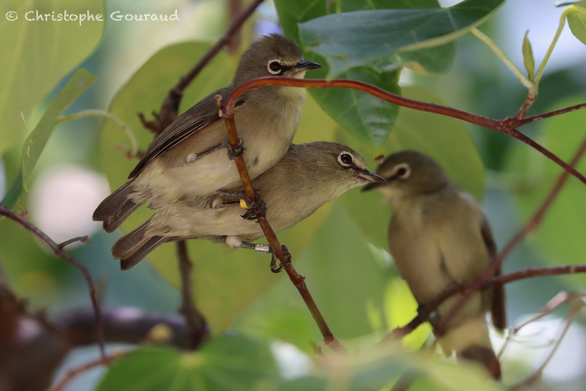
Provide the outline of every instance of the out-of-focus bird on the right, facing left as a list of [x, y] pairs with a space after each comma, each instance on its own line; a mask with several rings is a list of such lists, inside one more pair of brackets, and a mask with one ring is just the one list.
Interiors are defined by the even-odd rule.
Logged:
[[[377, 169], [389, 186], [371, 183], [393, 209], [389, 249], [415, 300], [424, 306], [450, 285], [474, 280], [496, 255], [496, 244], [481, 206], [449, 181], [433, 159], [414, 151], [390, 155]], [[500, 274], [500, 270], [497, 271]], [[430, 316], [437, 328], [461, 299], [444, 301]], [[481, 363], [495, 379], [500, 364], [490, 344], [486, 312], [495, 328], [506, 327], [502, 285], [472, 295], [438, 342], [446, 355]]]

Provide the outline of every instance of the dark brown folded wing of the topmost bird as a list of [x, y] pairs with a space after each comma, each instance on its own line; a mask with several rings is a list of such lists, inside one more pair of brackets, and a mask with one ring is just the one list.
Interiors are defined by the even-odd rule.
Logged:
[[[128, 179], [137, 176], [150, 162], [193, 133], [201, 131], [207, 125], [220, 120], [219, 108], [216, 106], [216, 95], [222, 96], [222, 100], [225, 101], [233, 90], [233, 86], [227, 86], [209, 94], [169, 124], [149, 145], [141, 161], [128, 175]], [[244, 100], [243, 95], [237, 101], [236, 106], [243, 104]]]

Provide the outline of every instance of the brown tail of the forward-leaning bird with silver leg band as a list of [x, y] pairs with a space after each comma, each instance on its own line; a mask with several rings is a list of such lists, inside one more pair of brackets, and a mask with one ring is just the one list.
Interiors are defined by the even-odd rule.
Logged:
[[[151, 217], [152, 218], [152, 217]], [[128, 270], [139, 263], [152, 250], [165, 243], [169, 238], [165, 236], [151, 236], [147, 234], [147, 228], [151, 219], [142, 223], [133, 230], [118, 239], [112, 247], [114, 258], [120, 259], [120, 268]]]

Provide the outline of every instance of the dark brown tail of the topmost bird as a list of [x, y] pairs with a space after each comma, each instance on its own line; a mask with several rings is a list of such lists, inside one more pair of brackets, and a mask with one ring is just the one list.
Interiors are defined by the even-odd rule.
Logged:
[[107, 196], [94, 210], [92, 219], [103, 222], [105, 232], [113, 232], [141, 204], [132, 201], [132, 180], [124, 183], [117, 191]]

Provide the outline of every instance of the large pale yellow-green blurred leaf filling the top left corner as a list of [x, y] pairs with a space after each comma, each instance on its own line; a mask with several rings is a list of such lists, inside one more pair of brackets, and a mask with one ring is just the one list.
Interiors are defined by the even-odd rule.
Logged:
[[[18, 15], [15, 21], [0, 23], [0, 155], [21, 140], [27, 118], [35, 104], [53, 90], [59, 80], [94, 51], [104, 32], [105, 21], [30, 22], [25, 19], [63, 10], [71, 14], [105, 14], [103, 1], [94, 0], [8, 0], [4, 12]], [[32, 11], [34, 10], [34, 11]], [[8, 14], [7, 14], [8, 15]], [[14, 15], [14, 14], [13, 14]], [[106, 16], [104, 16], [105, 18]], [[6, 16], [8, 18], [8, 16]]]

